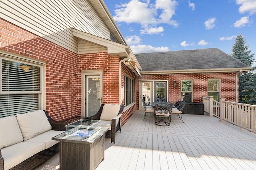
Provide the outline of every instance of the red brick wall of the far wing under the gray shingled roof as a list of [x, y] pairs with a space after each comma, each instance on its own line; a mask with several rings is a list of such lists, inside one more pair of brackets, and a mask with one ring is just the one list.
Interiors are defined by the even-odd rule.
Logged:
[[[220, 79], [221, 97], [227, 101], [235, 102], [235, 76], [236, 73], [195, 73], [195, 74], [163, 74], [163, 75], [142, 75], [136, 78], [136, 95], [139, 96], [140, 80], [168, 80], [168, 101], [176, 103], [181, 98], [181, 80], [193, 80], [193, 102], [202, 103], [202, 96], [207, 96], [208, 79]], [[174, 88], [173, 82], [177, 82]], [[136, 102], [139, 103], [139, 98]], [[137, 109], [139, 107], [137, 106]]]

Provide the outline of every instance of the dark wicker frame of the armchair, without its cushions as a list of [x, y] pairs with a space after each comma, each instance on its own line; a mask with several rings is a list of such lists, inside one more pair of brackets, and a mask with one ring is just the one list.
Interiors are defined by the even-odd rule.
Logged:
[[[100, 120], [100, 116], [103, 110], [104, 104], [100, 106], [100, 109], [96, 115], [93, 115], [91, 117], [86, 117], [85, 119], [91, 119], [91, 120]], [[121, 132], [121, 116], [124, 110], [124, 105], [121, 105], [119, 113], [116, 117], [112, 118], [111, 120], [111, 129], [108, 130], [105, 133], [105, 137], [110, 137], [111, 138], [111, 143], [116, 142], [116, 133], [120, 130]]]

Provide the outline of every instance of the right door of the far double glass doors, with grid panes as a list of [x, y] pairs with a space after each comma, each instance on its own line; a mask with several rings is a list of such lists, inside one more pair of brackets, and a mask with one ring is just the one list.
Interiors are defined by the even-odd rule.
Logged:
[[154, 101], [156, 101], [156, 98], [165, 98], [168, 101], [166, 81], [154, 82]]

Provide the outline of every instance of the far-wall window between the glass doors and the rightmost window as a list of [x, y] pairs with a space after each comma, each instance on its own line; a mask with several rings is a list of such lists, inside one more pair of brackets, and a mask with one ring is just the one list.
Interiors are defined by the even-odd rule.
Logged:
[[192, 80], [181, 80], [181, 100], [192, 103]]

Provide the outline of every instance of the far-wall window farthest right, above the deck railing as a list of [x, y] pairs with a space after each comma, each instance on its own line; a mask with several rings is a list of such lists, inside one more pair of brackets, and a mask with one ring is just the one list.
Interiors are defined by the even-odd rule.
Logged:
[[214, 100], [219, 101], [220, 98], [220, 80], [209, 79], [208, 80], [208, 97], [213, 96]]

